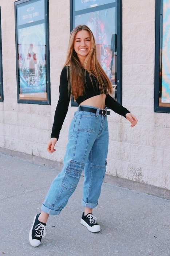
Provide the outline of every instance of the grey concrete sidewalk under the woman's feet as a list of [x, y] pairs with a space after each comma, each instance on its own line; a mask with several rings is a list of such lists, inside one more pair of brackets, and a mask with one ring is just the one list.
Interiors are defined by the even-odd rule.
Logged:
[[170, 256], [170, 201], [104, 183], [93, 211], [101, 226], [80, 224], [83, 177], [67, 206], [49, 217], [40, 246], [29, 244], [33, 217], [59, 170], [0, 154], [0, 254]]

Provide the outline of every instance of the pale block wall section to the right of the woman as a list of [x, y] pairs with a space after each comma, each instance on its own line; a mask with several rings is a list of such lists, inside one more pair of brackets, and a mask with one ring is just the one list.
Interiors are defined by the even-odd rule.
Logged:
[[[170, 114], [154, 113], [155, 0], [122, 4], [122, 103], [138, 117], [138, 125], [131, 129], [125, 119], [117, 125], [116, 175], [170, 189]], [[110, 147], [108, 157], [113, 152]]]

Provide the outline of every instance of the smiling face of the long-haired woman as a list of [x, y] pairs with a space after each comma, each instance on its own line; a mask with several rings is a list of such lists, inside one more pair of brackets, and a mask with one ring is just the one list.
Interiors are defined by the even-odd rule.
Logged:
[[80, 30], [74, 38], [74, 50], [80, 61], [84, 61], [91, 49], [90, 34], [87, 30]]

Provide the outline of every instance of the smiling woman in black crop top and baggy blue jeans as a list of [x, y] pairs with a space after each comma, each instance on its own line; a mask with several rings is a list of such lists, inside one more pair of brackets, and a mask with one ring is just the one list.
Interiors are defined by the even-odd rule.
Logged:
[[75, 27], [70, 35], [59, 92], [51, 139], [47, 144], [48, 152], [55, 151], [71, 95], [79, 107], [70, 124], [63, 169], [52, 182], [41, 213], [34, 217], [29, 233], [32, 246], [40, 244], [49, 214], [58, 215], [66, 206], [83, 170], [82, 205], [85, 209], [81, 223], [91, 232], [100, 231], [92, 209], [98, 204], [106, 172], [107, 114], [110, 114], [106, 106], [126, 117], [131, 127], [137, 124], [137, 118], [109, 95], [112, 93], [112, 84], [97, 60], [94, 35], [86, 25]]

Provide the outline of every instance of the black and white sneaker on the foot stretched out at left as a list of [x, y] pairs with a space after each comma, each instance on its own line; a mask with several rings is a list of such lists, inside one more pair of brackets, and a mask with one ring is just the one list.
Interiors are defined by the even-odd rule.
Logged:
[[[29, 242], [33, 247], [39, 246], [42, 237], [46, 236], [45, 226], [46, 223], [38, 220], [40, 213], [35, 215], [31, 230], [29, 231]], [[44, 235], [43, 235], [44, 232]]]

